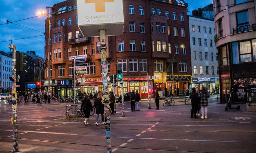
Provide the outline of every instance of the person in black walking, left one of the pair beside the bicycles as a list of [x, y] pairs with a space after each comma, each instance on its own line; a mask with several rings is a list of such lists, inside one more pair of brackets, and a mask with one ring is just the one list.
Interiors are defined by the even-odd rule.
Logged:
[[85, 95], [82, 100], [81, 111], [84, 112], [85, 114], [85, 121], [84, 121], [85, 126], [89, 125], [89, 117], [90, 117], [90, 112], [92, 111], [92, 106], [91, 106], [91, 101], [89, 100], [88, 95]]

